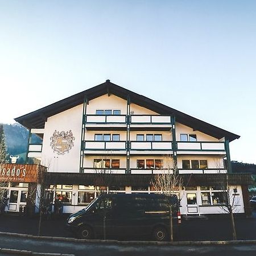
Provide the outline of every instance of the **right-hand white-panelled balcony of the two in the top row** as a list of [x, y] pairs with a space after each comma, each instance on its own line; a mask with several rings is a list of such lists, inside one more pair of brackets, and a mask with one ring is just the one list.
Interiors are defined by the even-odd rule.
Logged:
[[170, 130], [170, 115], [130, 115], [131, 130]]

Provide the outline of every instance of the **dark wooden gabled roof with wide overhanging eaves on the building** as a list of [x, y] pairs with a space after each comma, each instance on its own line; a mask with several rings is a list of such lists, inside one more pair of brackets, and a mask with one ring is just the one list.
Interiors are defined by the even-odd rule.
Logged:
[[189, 126], [194, 130], [201, 131], [202, 133], [208, 134], [212, 137], [218, 139], [225, 137], [229, 139], [229, 141], [240, 138], [240, 136], [237, 134], [230, 133], [229, 131], [218, 128], [214, 125], [210, 125], [207, 122], [201, 121], [195, 117], [191, 117], [191, 115], [182, 113], [176, 109], [172, 109], [138, 93], [131, 92], [131, 90], [127, 90], [119, 85], [113, 84], [109, 80], [106, 80], [106, 82], [103, 84], [94, 86], [68, 98], [64, 98], [64, 100], [57, 101], [44, 108], [35, 110], [34, 112], [28, 113], [26, 115], [22, 115], [21, 117], [17, 117], [15, 118], [15, 121], [27, 127], [28, 129], [44, 128], [44, 123], [47, 121], [48, 117], [71, 109], [77, 105], [83, 104], [85, 98], [90, 101], [106, 93], [114, 94], [125, 100], [127, 100], [127, 97], [129, 96], [130, 101], [134, 104], [150, 109], [159, 114], [175, 115], [177, 122], [185, 126]]

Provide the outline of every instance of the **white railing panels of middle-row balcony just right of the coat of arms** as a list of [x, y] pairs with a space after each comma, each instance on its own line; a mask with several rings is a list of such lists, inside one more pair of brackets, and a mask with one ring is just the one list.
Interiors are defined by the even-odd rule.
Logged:
[[84, 150], [126, 150], [126, 141], [84, 141]]

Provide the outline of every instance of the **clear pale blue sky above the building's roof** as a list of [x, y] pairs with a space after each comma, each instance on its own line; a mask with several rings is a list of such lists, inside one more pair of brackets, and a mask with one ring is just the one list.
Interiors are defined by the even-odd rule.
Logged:
[[0, 0], [0, 122], [106, 79], [240, 135], [231, 159], [256, 164], [256, 1]]

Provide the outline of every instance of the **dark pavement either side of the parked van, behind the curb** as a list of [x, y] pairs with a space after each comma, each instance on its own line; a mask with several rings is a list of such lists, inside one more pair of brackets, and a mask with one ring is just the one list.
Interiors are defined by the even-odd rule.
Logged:
[[[65, 231], [67, 215], [42, 220], [41, 236], [71, 237]], [[239, 218], [235, 220], [238, 240], [256, 240], [256, 218]], [[38, 235], [39, 218], [21, 216], [0, 216], [0, 232]], [[145, 240], [137, 238], [136, 240]], [[212, 218], [209, 220], [183, 220], [179, 226], [175, 241], [220, 241], [232, 240], [229, 218]]]

